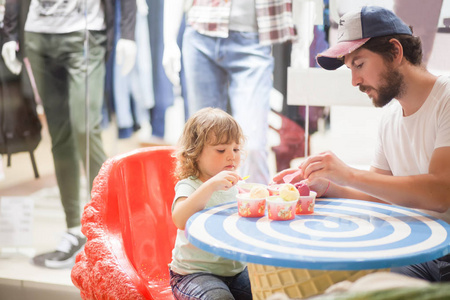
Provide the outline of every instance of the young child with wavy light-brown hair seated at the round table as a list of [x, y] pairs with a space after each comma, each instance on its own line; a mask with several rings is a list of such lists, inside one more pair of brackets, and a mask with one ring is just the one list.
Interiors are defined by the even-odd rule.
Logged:
[[246, 265], [193, 246], [185, 237], [194, 213], [236, 199], [236, 169], [244, 136], [236, 120], [217, 108], [204, 108], [187, 121], [176, 152], [172, 219], [178, 227], [170, 263], [176, 299], [252, 299]]

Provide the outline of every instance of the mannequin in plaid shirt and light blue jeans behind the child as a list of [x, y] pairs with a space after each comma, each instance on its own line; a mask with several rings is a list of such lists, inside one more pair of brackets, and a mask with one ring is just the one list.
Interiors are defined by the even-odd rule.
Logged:
[[[269, 171], [267, 165], [267, 150], [266, 147], [266, 137], [268, 131], [268, 122], [267, 116], [270, 111], [269, 98], [270, 92], [272, 89], [272, 72], [273, 72], [273, 58], [271, 57], [271, 45], [275, 43], [282, 43], [286, 41], [296, 41], [296, 35], [294, 33], [294, 23], [296, 24], [306, 24], [310, 19], [305, 20], [301, 19], [299, 22], [295, 22], [295, 20], [299, 17], [293, 17], [292, 12], [290, 11], [290, 7], [292, 4], [293, 12], [300, 12], [300, 17], [307, 14], [311, 11], [311, 7], [315, 7], [313, 5], [308, 5], [310, 2], [318, 2], [317, 0], [294, 0], [292, 3], [281, 3], [280, 1], [240, 1], [239, 3], [231, 1], [231, 6], [225, 7], [224, 9], [230, 9], [231, 17], [226, 19], [225, 13], [224, 15], [218, 14], [218, 18], [220, 17], [220, 21], [211, 20], [210, 7], [214, 6], [211, 4], [212, 2], [202, 1], [202, 4], [198, 4], [198, 2], [192, 2], [189, 0], [167, 0], [166, 7], [168, 9], [164, 10], [164, 56], [163, 56], [163, 66], [167, 77], [171, 80], [174, 85], [179, 84], [179, 72], [181, 69], [180, 57], [181, 51], [176, 43], [176, 36], [178, 33], [178, 28], [181, 23], [183, 12], [186, 11], [187, 15], [187, 28], [184, 34], [183, 40], [183, 55], [189, 55], [193, 53], [193, 55], [198, 55], [199, 52], [203, 52], [204, 49], [209, 46], [205, 46], [206, 43], [210, 42], [209, 45], [216, 43], [217, 47], [223, 47], [223, 57], [214, 58], [213, 55], [205, 59], [204, 61], [196, 61], [192, 63], [190, 59], [186, 58], [184, 61], [184, 68], [186, 73], [186, 81], [187, 81], [187, 93], [189, 99], [189, 113], [195, 113], [198, 109], [204, 106], [218, 106], [226, 109], [227, 107], [227, 99], [230, 101], [231, 113], [237, 119], [244, 130], [244, 134], [247, 136], [248, 145], [246, 149], [248, 149], [247, 157], [242, 164], [241, 173], [243, 176], [250, 175], [252, 178], [252, 182], [260, 182], [267, 184], [269, 182]], [[246, 2], [247, 4], [244, 4]], [[264, 2], [264, 4], [262, 4]], [[207, 4], [205, 4], [207, 3]], [[200, 9], [196, 5], [200, 7]], [[247, 5], [247, 6], [246, 6]], [[270, 40], [267, 36], [264, 36], [264, 33], [268, 35], [267, 30], [270, 30], [273, 33], [275, 28], [279, 29], [279, 27], [272, 28], [260, 28], [258, 24], [262, 24], [264, 26], [264, 18], [258, 16], [258, 12], [264, 9], [264, 5], [276, 5], [278, 7], [284, 8], [286, 5], [287, 12], [283, 14], [283, 18], [280, 27], [283, 30], [276, 32], [275, 35], [278, 39]], [[226, 4], [225, 4], [226, 6]], [[295, 7], [297, 6], [297, 9]], [[203, 7], [203, 8], [202, 8]], [[206, 7], [206, 8], [205, 8]], [[320, 6], [321, 8], [322, 6]], [[261, 9], [262, 8], [262, 9]], [[246, 21], [245, 18], [239, 18], [240, 11], [248, 11], [249, 9], [253, 9], [252, 14], [248, 14], [251, 17], [248, 19], [254, 18], [254, 21]], [[205, 12], [205, 15], [202, 15], [202, 12]], [[233, 18], [233, 15], [236, 16]], [[259, 18], [259, 19], [258, 19]], [[239, 23], [242, 22], [243, 25]], [[273, 18], [277, 19], [277, 18]], [[207, 20], [207, 21], [205, 21]], [[237, 20], [238, 22], [233, 23], [233, 20]], [[311, 18], [312, 20], [312, 18]], [[197, 22], [197, 24], [196, 24]], [[209, 30], [206, 28], [206, 22], [217, 22], [220, 23], [222, 27], [227, 27], [227, 30]], [[199, 25], [200, 23], [200, 25]], [[241, 26], [242, 25], [242, 26]], [[279, 25], [279, 24], [278, 24]], [[202, 26], [205, 26], [204, 28]], [[217, 26], [217, 27], [220, 27]], [[195, 28], [195, 29], [194, 29]], [[199, 29], [200, 28], [200, 29]], [[193, 36], [187, 35], [186, 32], [195, 30], [195, 34]], [[266, 30], [266, 31], [265, 31]], [[303, 28], [302, 28], [303, 30]], [[298, 55], [294, 55], [293, 61], [296, 64], [301, 64], [303, 59], [306, 59], [308, 62], [308, 56], [304, 57], [304, 53], [309, 53], [309, 44], [312, 40], [312, 31], [313, 24], [311, 22], [311, 26], [308, 26], [306, 31], [310, 31], [311, 34], [309, 36], [301, 36], [301, 43], [296, 44], [295, 53]], [[303, 31], [302, 31], [303, 33]], [[239, 39], [240, 34], [243, 35], [256, 35], [254, 40], [248, 39], [247, 41], [242, 39], [241, 41], [246, 46], [239, 48], [239, 43], [234, 43], [234, 38], [230, 37], [231, 35], [237, 35]], [[211, 38], [212, 40], [208, 40], [205, 44], [199, 45], [196, 44], [195, 38], [198, 37], [200, 40]], [[309, 38], [308, 38], [309, 37]], [[272, 38], [272, 37], [271, 37]], [[251, 41], [251, 42], [249, 42]], [[248, 46], [247, 42], [251, 44]], [[230, 44], [230, 48], [225, 49], [226, 43]], [[223, 44], [223, 45], [222, 45]], [[220, 45], [220, 46], [219, 46]], [[305, 46], [306, 45], [306, 46]], [[198, 48], [197, 48], [198, 47]], [[205, 48], [206, 47], [206, 48]], [[254, 47], [254, 48], [251, 48]], [[200, 50], [201, 48], [201, 50]], [[214, 52], [209, 48], [211, 52]], [[239, 49], [238, 49], [239, 48]], [[217, 48], [219, 49], [219, 48]], [[230, 50], [232, 49], [232, 50]], [[242, 52], [239, 52], [242, 51]], [[294, 53], [293, 51], [293, 53]], [[220, 50], [217, 50], [217, 53], [222, 53]], [[219, 54], [217, 54], [219, 56]], [[231, 57], [236, 58], [231, 58]], [[186, 56], [188, 57], [188, 56]], [[197, 58], [197, 57], [196, 57]], [[227, 60], [230, 58], [231, 61], [228, 63], [223, 63], [220, 61], [221, 59]], [[264, 58], [264, 61], [259, 61], [258, 59]], [[255, 61], [258, 60], [258, 61]], [[214, 61], [214, 63], [211, 63]], [[252, 63], [250, 63], [252, 61]], [[213, 65], [211, 69], [211, 73], [208, 72], [196, 72], [195, 69], [200, 68], [204, 65]], [[266, 64], [266, 69], [262, 70], [263, 66]], [[234, 67], [234, 66], [236, 67]], [[259, 66], [259, 70], [257, 69]], [[208, 66], [209, 67], [209, 66]], [[247, 68], [248, 74], [244, 74], [245, 71], [237, 71], [240, 67]], [[198, 76], [196, 76], [196, 74]], [[222, 74], [222, 75], [217, 75]], [[255, 75], [256, 74], [256, 75]], [[216, 77], [219, 76], [219, 77]], [[222, 76], [222, 77], [220, 77]], [[251, 77], [249, 77], [251, 76]], [[259, 77], [258, 77], [259, 76]], [[209, 82], [201, 84], [201, 81], [204, 81], [205, 77], [209, 77]], [[252, 79], [251, 79], [252, 78]], [[212, 83], [216, 80], [216, 82]], [[249, 81], [252, 80], [252, 81]], [[228, 82], [228, 88], [225, 88], [226, 91], [221, 90], [218, 92], [220, 95], [212, 95], [206, 94], [208, 88], [216, 89], [214, 85], [217, 85], [217, 89], [223, 88], [220, 86], [220, 82]], [[213, 87], [211, 87], [211, 84]], [[225, 94], [225, 95], [223, 95]], [[210, 99], [221, 98], [220, 100], [214, 101]], [[251, 116], [249, 118], [249, 116]]]

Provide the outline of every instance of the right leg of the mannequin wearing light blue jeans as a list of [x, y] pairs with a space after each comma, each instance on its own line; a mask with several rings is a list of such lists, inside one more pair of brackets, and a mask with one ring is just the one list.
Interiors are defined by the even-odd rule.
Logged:
[[222, 64], [230, 74], [232, 114], [247, 136], [247, 157], [241, 175], [252, 182], [270, 181], [267, 164], [268, 115], [272, 90], [273, 57], [270, 46], [259, 44], [257, 33], [230, 32]]

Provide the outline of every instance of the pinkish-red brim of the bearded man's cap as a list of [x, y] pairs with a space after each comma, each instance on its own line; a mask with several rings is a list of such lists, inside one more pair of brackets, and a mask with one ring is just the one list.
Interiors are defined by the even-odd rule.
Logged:
[[317, 63], [326, 70], [336, 70], [344, 64], [343, 57], [345, 55], [352, 53], [368, 40], [370, 38], [337, 43], [324, 52], [319, 53], [316, 56]]

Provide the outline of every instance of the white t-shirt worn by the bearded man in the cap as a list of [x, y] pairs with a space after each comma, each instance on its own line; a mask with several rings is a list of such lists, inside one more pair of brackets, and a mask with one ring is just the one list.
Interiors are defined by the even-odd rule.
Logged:
[[[438, 77], [414, 114], [404, 117], [398, 101], [386, 107], [372, 166], [394, 176], [427, 174], [431, 155], [440, 147], [450, 147], [450, 78], [445, 76]], [[450, 210], [426, 212], [450, 223]]]

